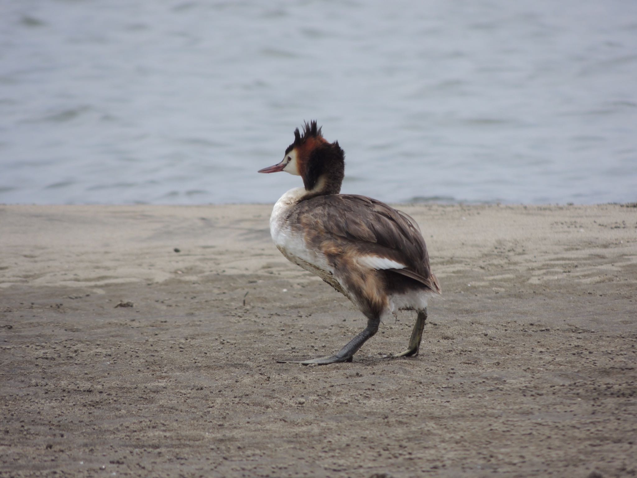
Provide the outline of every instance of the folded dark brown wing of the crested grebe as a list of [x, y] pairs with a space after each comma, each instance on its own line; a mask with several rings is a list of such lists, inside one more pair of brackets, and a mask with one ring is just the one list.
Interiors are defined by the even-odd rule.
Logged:
[[389, 269], [417, 280], [440, 293], [436, 276], [431, 273], [425, 241], [417, 223], [391, 206], [354, 194], [331, 194], [301, 201], [292, 209], [292, 223], [303, 227], [306, 240], [313, 247], [327, 250], [337, 240], [334, 254], [343, 247], [362, 256], [378, 256], [405, 268]]

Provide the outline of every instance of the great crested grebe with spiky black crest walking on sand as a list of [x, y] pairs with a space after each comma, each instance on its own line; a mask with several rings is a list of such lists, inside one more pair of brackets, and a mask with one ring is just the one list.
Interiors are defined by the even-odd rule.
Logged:
[[441, 294], [431, 272], [427, 246], [417, 222], [391, 206], [357, 194], [340, 194], [345, 152], [329, 143], [315, 120], [294, 130], [280, 163], [259, 173], [285, 171], [303, 187], [285, 192], [272, 210], [270, 233], [289, 261], [318, 275], [347, 297], [367, 326], [331, 356], [302, 365], [351, 362], [354, 354], [398, 310], [415, 310], [408, 347], [393, 357], [417, 356], [427, 320], [427, 299]]

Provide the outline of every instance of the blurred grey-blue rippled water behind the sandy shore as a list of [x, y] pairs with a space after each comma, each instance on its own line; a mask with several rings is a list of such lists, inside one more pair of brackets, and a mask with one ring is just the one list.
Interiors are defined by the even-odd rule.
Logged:
[[0, 203], [637, 199], [637, 2], [2, 0]]

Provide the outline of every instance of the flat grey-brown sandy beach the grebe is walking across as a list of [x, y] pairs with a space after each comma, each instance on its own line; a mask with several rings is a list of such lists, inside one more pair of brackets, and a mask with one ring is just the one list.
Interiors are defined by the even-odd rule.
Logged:
[[0, 475], [637, 475], [637, 208], [400, 206], [443, 296], [381, 324], [268, 205], [0, 206]]

